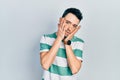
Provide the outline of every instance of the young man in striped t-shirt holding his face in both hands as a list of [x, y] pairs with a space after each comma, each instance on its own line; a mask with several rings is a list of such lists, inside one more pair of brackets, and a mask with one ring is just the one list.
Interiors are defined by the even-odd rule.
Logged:
[[40, 40], [40, 61], [44, 69], [42, 80], [76, 80], [82, 65], [84, 41], [75, 33], [80, 29], [82, 13], [68, 8], [58, 23], [58, 31], [43, 35]]

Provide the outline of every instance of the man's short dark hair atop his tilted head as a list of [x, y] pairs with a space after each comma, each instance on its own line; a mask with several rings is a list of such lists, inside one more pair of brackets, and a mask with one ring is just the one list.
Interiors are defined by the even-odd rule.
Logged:
[[74, 14], [79, 19], [79, 21], [81, 21], [83, 19], [81, 11], [79, 9], [77, 9], [77, 8], [68, 8], [68, 9], [66, 9], [64, 11], [62, 17], [65, 17], [68, 13]]

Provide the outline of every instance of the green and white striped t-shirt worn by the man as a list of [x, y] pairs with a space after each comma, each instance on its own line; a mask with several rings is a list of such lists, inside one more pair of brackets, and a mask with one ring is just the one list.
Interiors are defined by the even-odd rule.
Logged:
[[[43, 35], [40, 40], [40, 52], [49, 51], [56, 38], [56, 32]], [[79, 60], [83, 60], [83, 45], [84, 41], [82, 39], [76, 36], [71, 39], [74, 55]], [[68, 66], [66, 50], [61, 41], [55, 60], [48, 70], [44, 70], [42, 80], [77, 80], [75, 78]]]

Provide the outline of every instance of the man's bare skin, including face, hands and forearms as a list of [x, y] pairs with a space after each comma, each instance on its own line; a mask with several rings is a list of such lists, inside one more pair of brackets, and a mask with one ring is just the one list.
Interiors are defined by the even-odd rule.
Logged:
[[[67, 36], [65, 41], [71, 40], [74, 34], [80, 29], [80, 26], [78, 26], [79, 23], [79, 19], [72, 13], [68, 13], [64, 18], [60, 18], [58, 23], [58, 31], [56, 32], [57, 38], [55, 39], [53, 46], [49, 51], [42, 52], [40, 54], [41, 65], [45, 70], [48, 70], [53, 63], [64, 36]], [[64, 45], [68, 65], [72, 71], [72, 74], [76, 74], [81, 68], [82, 61], [76, 58], [70, 45]]]

